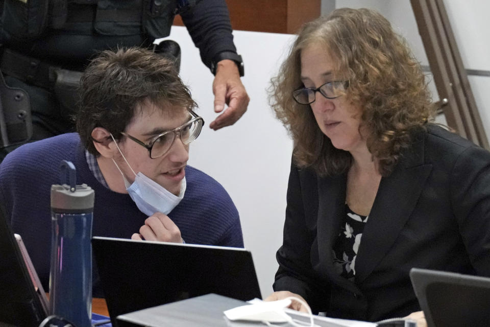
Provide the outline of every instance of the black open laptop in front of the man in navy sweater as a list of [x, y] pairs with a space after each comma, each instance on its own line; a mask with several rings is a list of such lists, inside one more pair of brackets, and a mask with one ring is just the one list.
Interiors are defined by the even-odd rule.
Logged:
[[92, 250], [113, 326], [118, 315], [209, 293], [261, 298], [245, 249], [93, 237]]

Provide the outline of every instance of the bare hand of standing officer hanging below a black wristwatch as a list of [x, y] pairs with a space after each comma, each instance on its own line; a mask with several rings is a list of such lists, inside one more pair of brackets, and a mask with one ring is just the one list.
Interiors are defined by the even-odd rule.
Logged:
[[222, 112], [225, 104], [228, 108], [209, 124], [210, 128], [218, 130], [233, 125], [247, 111], [250, 99], [233, 60], [225, 59], [217, 63], [213, 94], [215, 112]]

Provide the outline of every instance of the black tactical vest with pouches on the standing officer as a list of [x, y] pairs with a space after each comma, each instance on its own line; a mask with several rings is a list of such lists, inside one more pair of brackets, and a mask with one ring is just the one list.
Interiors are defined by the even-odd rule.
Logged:
[[5, 0], [2, 40], [24, 41], [51, 30], [73, 35], [168, 36], [183, 0]]

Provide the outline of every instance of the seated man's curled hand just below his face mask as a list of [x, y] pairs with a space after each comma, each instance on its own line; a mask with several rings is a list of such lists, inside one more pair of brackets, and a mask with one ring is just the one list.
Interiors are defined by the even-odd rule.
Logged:
[[179, 227], [162, 213], [155, 213], [146, 218], [144, 225], [139, 229], [139, 234], [134, 233], [131, 239], [183, 243]]

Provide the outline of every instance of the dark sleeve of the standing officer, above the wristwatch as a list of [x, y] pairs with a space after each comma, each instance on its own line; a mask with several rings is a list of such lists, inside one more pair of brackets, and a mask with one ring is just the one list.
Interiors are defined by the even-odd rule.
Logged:
[[220, 52], [236, 53], [225, 0], [198, 0], [194, 7], [180, 15], [206, 66], [210, 67], [214, 56]]

